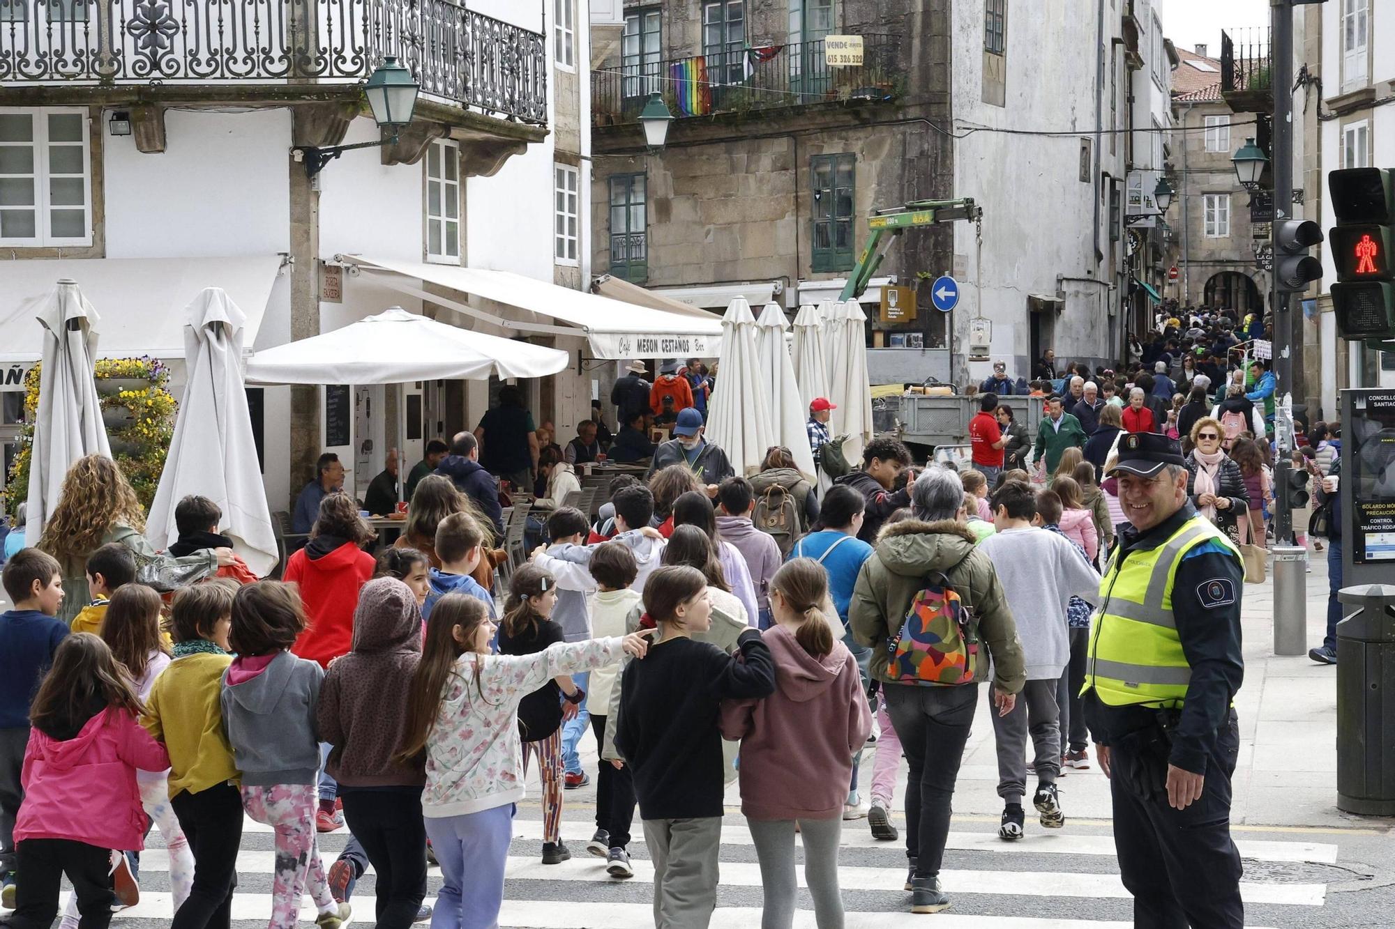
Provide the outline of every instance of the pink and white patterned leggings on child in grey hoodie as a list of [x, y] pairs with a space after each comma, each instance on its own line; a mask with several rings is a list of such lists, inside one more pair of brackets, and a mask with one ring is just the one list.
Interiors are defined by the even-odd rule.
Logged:
[[276, 833], [276, 873], [268, 929], [294, 929], [301, 893], [308, 893], [319, 912], [335, 909], [325, 869], [315, 844], [315, 784], [243, 785], [243, 809]]

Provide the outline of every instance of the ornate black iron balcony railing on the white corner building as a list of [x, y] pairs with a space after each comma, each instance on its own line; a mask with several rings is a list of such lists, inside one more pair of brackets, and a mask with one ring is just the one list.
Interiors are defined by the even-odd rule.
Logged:
[[452, 0], [0, 0], [0, 82], [352, 85], [395, 54], [421, 93], [547, 121], [543, 36]]

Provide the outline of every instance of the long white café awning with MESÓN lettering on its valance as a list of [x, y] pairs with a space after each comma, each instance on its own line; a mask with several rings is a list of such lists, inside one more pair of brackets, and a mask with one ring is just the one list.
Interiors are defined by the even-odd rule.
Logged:
[[[399, 293], [420, 297], [474, 319], [502, 326], [505, 331], [582, 336], [597, 358], [710, 358], [718, 354], [721, 346], [721, 321], [700, 311], [679, 314], [656, 310], [508, 271], [428, 265], [363, 255], [336, 255], [336, 259], [372, 273], [375, 282]], [[425, 283], [455, 290], [460, 299], [427, 292]], [[509, 318], [467, 303], [469, 297], [513, 307], [551, 322]]]

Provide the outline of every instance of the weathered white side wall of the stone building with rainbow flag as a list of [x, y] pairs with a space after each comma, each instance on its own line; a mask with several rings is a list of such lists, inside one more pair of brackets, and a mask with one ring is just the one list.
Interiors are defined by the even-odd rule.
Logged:
[[[1098, 21], [1081, 15], [1077, 3], [1046, 0], [1043, 7], [1031, 17], [1007, 17], [1007, 92], [1002, 107], [982, 102], [982, 7], [956, 4], [951, 13], [956, 130], [982, 126], [1071, 133], [1023, 137], [986, 131], [954, 142], [954, 197], [972, 197], [983, 208], [982, 268], [975, 266], [972, 223], [954, 223], [954, 268], [963, 286], [954, 311], [956, 345], [967, 343], [970, 319], [982, 307], [993, 322], [993, 357], [1007, 360], [1011, 372], [1027, 377], [1028, 294], [1056, 294], [1057, 276], [1096, 278], [1101, 268], [1089, 232], [1096, 127], [1095, 56], [1089, 50], [1096, 47]], [[1042, 31], [1041, 22], [1056, 27]], [[1108, 99], [1103, 105], [1108, 109]], [[1084, 181], [1081, 139], [1091, 145]], [[1108, 246], [1108, 237], [1102, 237], [1101, 248]], [[974, 287], [976, 273], [982, 296]], [[1066, 308], [1048, 312], [1053, 317], [1052, 332], [1042, 347], [1055, 347], [1063, 360], [1109, 354], [1106, 286], [1067, 280], [1062, 289]], [[968, 372], [974, 379], [986, 377], [990, 364], [974, 363]]]

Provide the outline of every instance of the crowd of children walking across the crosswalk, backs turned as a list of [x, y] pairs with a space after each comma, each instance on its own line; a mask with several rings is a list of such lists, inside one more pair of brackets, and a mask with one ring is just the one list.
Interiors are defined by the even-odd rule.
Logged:
[[[172, 926], [226, 929], [250, 817], [275, 836], [269, 929], [296, 923], [303, 894], [317, 925], [336, 929], [368, 866], [378, 926], [406, 929], [425, 914], [439, 929], [490, 926], [534, 767], [541, 861], [572, 856], [562, 806], [565, 790], [589, 783], [579, 760], [587, 730], [601, 762], [585, 851], [611, 877], [633, 876], [638, 809], [656, 925], [707, 925], [723, 796], [737, 780], [762, 872], [763, 926], [792, 923], [797, 831], [817, 922], [841, 925], [844, 820], [866, 816], [876, 838], [898, 837], [894, 721], [900, 713], [907, 724], [905, 689], [889, 683], [884, 653], [911, 629], [903, 611], [882, 639], [858, 636], [851, 605], [872, 559], [891, 564], [926, 531], [918, 513], [929, 512], [898, 508], [915, 485], [904, 448], [879, 441], [868, 452], [858, 474], [869, 480], [831, 487], [787, 555], [752, 522], [756, 501], [741, 477], [714, 488], [714, 499], [674, 469], [650, 485], [624, 480], [594, 524], [557, 508], [545, 543], [508, 577], [498, 622], [478, 580], [488, 533], [448, 488], [431, 513], [409, 520], [417, 536], [434, 529], [425, 551], [395, 545], [375, 561], [363, 551], [370, 531], [353, 502], [332, 494], [282, 582], [250, 582], [234, 569], [170, 603], [137, 583], [126, 548], [99, 547], [86, 564], [91, 604], [71, 629], [53, 618], [61, 566], [22, 550], [4, 568], [14, 610], [0, 618], [0, 872], [14, 907], [0, 925], [47, 926], [67, 875], [66, 925], [105, 926], [138, 893], [138, 852], [153, 823], [170, 854]], [[1004, 838], [1023, 834], [1028, 735], [1032, 798], [1046, 826], [1064, 822], [1056, 773], [1084, 759], [1069, 693], [1078, 689], [1078, 624], [1088, 625], [1108, 516], [1091, 466], [1062, 467], [1071, 473], [1042, 492], [1020, 471], [1002, 476], [992, 498], [972, 473], [946, 485], [954, 531], [996, 566], [995, 596], [1027, 618], [993, 626], [997, 647], [1016, 643], [1004, 661], [1027, 678], [1007, 685], [1023, 690], [1020, 700], [992, 692]], [[430, 480], [418, 491], [431, 491]], [[942, 483], [915, 485], [915, 499]], [[188, 551], [223, 540], [205, 504], [181, 504]], [[876, 534], [866, 533], [872, 505]], [[976, 576], [988, 562], [975, 562]], [[929, 763], [922, 735], [904, 748], [912, 780]], [[858, 769], [872, 738], [864, 805]], [[66, 760], [46, 763], [54, 757]], [[911, 790], [908, 808], [921, 809], [922, 790]], [[74, 816], [89, 802], [84, 791], [119, 827], [93, 831]], [[349, 848], [326, 868], [317, 831], [343, 824]], [[933, 841], [918, 824], [910, 831], [908, 847]], [[442, 873], [434, 912], [424, 905], [428, 847]], [[937, 872], [928, 845], [923, 861], [921, 870]], [[939, 894], [937, 877], [917, 872], [912, 855], [908, 887], [923, 880]], [[943, 894], [917, 902], [925, 912], [944, 905]]]

